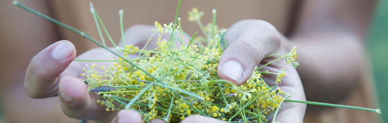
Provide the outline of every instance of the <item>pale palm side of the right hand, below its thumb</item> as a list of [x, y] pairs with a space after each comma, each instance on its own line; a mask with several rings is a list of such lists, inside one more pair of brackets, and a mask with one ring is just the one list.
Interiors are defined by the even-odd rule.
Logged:
[[[275, 60], [274, 58], [264, 59], [259, 66], [263, 65], [262, 63], [267, 63]], [[284, 59], [280, 59], [276, 62], [273, 62], [267, 66], [264, 66], [260, 71], [269, 70], [270, 72], [278, 72], [281, 68], [284, 68], [286, 75], [281, 78], [281, 83], [275, 84], [276, 75], [274, 74], [263, 74], [264, 81], [268, 86], [278, 86], [281, 91], [291, 94], [292, 96], [287, 99], [293, 100], [303, 100], [305, 101], [305, 92], [303, 85], [297, 70], [291, 64], [287, 64]], [[293, 103], [293, 102], [283, 102], [281, 108], [278, 111], [276, 121], [280, 123], [302, 123], [303, 121], [295, 121], [303, 119], [305, 112], [305, 104], [302, 103]], [[273, 116], [270, 118], [272, 119]], [[269, 119], [269, 118], [266, 118]]]

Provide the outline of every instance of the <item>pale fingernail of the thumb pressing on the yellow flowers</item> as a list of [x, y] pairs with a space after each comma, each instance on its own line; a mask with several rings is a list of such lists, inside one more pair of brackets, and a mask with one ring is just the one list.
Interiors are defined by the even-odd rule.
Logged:
[[241, 76], [243, 76], [243, 71], [244, 71], [243, 67], [241, 66], [241, 64], [239, 62], [232, 61], [232, 60], [229, 60], [229, 61], [226, 61], [225, 63], [223, 63], [221, 70], [226, 76], [228, 76], [236, 81], [240, 81]]

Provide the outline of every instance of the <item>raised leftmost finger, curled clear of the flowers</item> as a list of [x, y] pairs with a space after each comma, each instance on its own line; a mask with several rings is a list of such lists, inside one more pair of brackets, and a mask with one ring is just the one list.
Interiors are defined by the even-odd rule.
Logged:
[[29, 97], [57, 95], [57, 78], [74, 60], [76, 49], [67, 40], [60, 40], [36, 54], [28, 64], [24, 88]]

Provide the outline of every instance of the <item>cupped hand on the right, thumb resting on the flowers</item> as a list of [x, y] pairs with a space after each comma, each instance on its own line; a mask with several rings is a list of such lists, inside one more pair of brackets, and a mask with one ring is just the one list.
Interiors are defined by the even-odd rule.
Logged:
[[[289, 46], [287, 38], [282, 36], [274, 26], [262, 20], [239, 21], [227, 30], [224, 39], [228, 41], [229, 46], [222, 53], [217, 73], [221, 79], [230, 80], [236, 85], [246, 82], [255, 66], [262, 66], [277, 59], [276, 57], [265, 58], [266, 56], [284, 51], [289, 52], [294, 47]], [[284, 59], [272, 62], [259, 71], [279, 72], [281, 68], [285, 69], [286, 75], [281, 78], [281, 83], [278, 83], [277, 86], [280, 90], [292, 95], [288, 99], [305, 101], [305, 92], [298, 72]], [[276, 86], [276, 75], [263, 74], [263, 79], [269, 86]], [[305, 109], [306, 105], [302, 103], [283, 102], [275, 122], [303, 123]], [[183, 122], [209, 123], [211, 121], [211, 118], [203, 116], [194, 117], [197, 118], [189, 119], [189, 117]], [[272, 121], [272, 117], [267, 116], [266, 119]]]

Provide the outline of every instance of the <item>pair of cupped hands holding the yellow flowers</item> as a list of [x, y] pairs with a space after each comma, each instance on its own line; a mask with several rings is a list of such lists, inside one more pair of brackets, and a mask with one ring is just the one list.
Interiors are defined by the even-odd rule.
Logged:
[[[129, 28], [125, 32], [125, 44], [144, 46], [144, 41], [150, 37], [153, 28], [153, 26], [145, 25]], [[237, 85], [243, 84], [249, 78], [255, 66], [274, 60], [271, 57], [264, 59], [267, 55], [289, 51], [293, 47], [289, 46], [289, 41], [279, 34], [274, 26], [262, 20], [239, 21], [227, 30], [224, 39], [230, 44], [222, 53], [217, 72], [220, 78], [230, 80]], [[156, 41], [156, 39], [153, 40]], [[156, 43], [151, 42], [150, 44], [148, 49], [156, 47]], [[101, 123], [142, 123], [142, 118], [136, 111], [107, 112], [105, 106], [97, 104], [96, 100], [99, 99], [99, 95], [96, 92], [87, 92], [86, 85], [79, 79], [80, 74], [83, 73], [82, 67], [92, 62], [73, 61], [75, 58], [75, 47], [66, 40], [55, 42], [35, 55], [28, 65], [24, 82], [28, 96], [46, 98], [59, 95], [63, 112], [75, 119]], [[103, 48], [95, 48], [78, 56], [77, 59], [109, 60], [110, 57]], [[112, 62], [99, 62], [98, 64], [109, 66]], [[277, 86], [282, 91], [292, 94], [290, 99], [305, 100], [301, 79], [291, 64], [280, 60], [263, 67], [262, 70], [277, 72], [283, 67], [287, 75]], [[276, 76], [264, 75], [263, 79], [269, 86], [275, 86]], [[276, 121], [302, 123], [305, 108], [305, 104], [284, 102]], [[266, 119], [271, 119], [271, 117]], [[154, 119], [153, 122], [164, 123], [160, 119]], [[222, 121], [193, 115], [183, 120], [182, 123], [222, 123]]]

